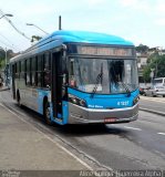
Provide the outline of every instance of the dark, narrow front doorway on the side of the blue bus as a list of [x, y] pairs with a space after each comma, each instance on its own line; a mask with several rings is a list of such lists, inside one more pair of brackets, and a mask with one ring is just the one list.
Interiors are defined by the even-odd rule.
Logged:
[[62, 52], [52, 53], [52, 106], [53, 117], [62, 117]]

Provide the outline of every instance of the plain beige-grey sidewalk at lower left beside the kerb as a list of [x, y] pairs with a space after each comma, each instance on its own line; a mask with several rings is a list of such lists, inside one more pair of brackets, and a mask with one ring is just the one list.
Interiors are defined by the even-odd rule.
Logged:
[[0, 170], [87, 170], [69, 150], [21, 118], [0, 103]]

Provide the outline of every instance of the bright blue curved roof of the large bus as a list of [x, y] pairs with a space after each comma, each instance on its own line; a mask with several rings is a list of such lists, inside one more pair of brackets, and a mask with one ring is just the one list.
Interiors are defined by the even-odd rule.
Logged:
[[55, 31], [52, 34], [47, 35], [45, 38], [41, 39], [31, 48], [27, 49], [20, 55], [17, 55], [10, 60], [16, 61], [19, 58], [27, 56], [28, 54], [40, 53], [41, 51], [49, 50], [49, 48], [59, 46], [62, 43], [86, 43], [86, 44], [105, 44], [105, 45], [127, 45], [133, 46], [134, 44], [130, 41], [124, 40], [123, 38], [99, 33], [99, 32], [87, 32], [87, 31], [68, 31], [68, 30], [60, 30]]

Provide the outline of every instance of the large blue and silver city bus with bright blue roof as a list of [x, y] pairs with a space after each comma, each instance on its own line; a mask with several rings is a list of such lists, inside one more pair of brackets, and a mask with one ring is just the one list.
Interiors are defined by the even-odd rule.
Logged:
[[13, 98], [48, 124], [138, 117], [135, 48], [115, 35], [56, 31], [10, 60]]

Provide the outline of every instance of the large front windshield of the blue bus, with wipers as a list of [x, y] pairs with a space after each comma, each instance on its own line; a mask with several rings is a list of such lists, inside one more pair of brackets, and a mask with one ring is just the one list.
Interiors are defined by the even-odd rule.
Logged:
[[70, 58], [69, 85], [87, 93], [117, 94], [137, 88], [135, 60]]

